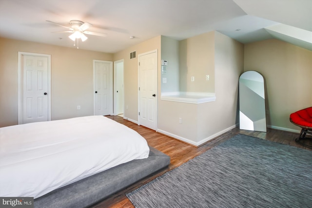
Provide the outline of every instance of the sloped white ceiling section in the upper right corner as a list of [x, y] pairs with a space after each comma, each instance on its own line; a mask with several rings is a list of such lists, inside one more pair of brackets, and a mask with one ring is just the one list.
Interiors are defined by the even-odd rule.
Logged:
[[249, 15], [279, 22], [265, 27], [273, 38], [312, 51], [312, 0], [234, 1]]

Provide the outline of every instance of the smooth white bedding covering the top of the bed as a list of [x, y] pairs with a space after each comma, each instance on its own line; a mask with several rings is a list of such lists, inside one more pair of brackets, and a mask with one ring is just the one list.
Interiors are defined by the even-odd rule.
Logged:
[[0, 196], [38, 198], [148, 155], [142, 136], [100, 115], [3, 127]]

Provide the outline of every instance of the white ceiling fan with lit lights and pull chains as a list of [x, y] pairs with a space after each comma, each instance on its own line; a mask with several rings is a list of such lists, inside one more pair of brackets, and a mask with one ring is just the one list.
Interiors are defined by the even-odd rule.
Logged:
[[90, 24], [89, 22], [83, 22], [79, 20], [70, 20], [69, 23], [71, 24], [71, 27], [67, 27], [65, 25], [61, 25], [53, 21], [49, 21], [49, 20], [46, 20], [46, 21], [68, 29], [68, 31], [60, 31], [60, 32], [54, 32], [54, 33], [72, 33], [72, 35], [70, 35], [69, 38], [74, 41], [74, 46], [75, 46], [76, 39], [77, 39], [77, 45], [78, 45], [79, 38], [81, 38], [81, 41], [85, 41], [86, 39], [88, 39], [88, 37], [86, 37], [85, 34], [93, 35], [93, 36], [101, 36], [101, 37], [107, 36], [106, 33], [96, 33], [96, 32], [87, 31], [87, 29], [92, 27], [92, 24]]

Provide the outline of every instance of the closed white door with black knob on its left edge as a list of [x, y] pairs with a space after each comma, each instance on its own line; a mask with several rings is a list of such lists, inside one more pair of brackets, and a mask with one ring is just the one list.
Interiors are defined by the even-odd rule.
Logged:
[[94, 114], [113, 114], [113, 62], [93, 60]]

